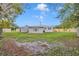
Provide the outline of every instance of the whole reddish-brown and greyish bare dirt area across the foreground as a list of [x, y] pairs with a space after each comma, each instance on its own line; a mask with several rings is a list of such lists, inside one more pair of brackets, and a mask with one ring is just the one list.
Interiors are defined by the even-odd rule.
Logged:
[[20, 43], [15, 40], [6, 40], [3, 43], [2, 51], [10, 53], [9, 55], [29, 56], [48, 53], [49, 49], [64, 46], [63, 43], [52, 43], [42, 41]]

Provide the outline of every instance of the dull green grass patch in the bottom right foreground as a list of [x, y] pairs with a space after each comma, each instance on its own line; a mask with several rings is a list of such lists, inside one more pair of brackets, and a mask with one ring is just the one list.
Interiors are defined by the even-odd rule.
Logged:
[[79, 56], [79, 47], [77, 48], [65, 48], [54, 47], [50, 49], [48, 53], [40, 54], [43, 56]]

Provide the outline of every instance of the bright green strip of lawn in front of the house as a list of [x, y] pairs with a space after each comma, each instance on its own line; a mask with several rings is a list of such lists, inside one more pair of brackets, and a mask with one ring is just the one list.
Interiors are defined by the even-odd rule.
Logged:
[[42, 34], [30, 34], [21, 32], [7, 32], [3, 33], [4, 38], [14, 38], [20, 42], [32, 42], [35, 40], [45, 40], [48, 42], [59, 42], [63, 40], [73, 40], [75, 33], [72, 32], [52, 32]]

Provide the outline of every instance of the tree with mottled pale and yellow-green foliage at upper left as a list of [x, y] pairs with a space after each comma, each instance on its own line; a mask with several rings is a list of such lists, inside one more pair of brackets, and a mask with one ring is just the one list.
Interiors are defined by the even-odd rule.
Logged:
[[22, 11], [22, 4], [0, 3], [0, 34], [2, 33], [2, 28], [9, 28], [15, 17], [21, 14]]

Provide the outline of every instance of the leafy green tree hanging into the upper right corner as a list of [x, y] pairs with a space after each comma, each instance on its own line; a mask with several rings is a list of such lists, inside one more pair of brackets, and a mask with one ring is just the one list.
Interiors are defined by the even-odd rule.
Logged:
[[64, 4], [59, 10], [61, 25], [64, 28], [73, 28], [79, 26], [79, 4]]

